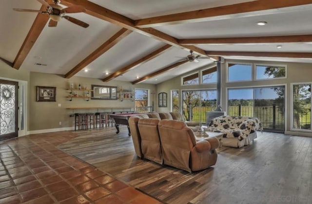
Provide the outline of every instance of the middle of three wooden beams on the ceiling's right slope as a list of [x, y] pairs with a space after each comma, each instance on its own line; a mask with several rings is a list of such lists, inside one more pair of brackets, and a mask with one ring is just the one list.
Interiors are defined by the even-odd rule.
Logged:
[[198, 38], [179, 39], [183, 45], [193, 44], [228, 44], [228, 43], [283, 43], [283, 42], [312, 42], [312, 35], [296, 36], [264, 36], [264, 37], [223, 37], [223, 38]]

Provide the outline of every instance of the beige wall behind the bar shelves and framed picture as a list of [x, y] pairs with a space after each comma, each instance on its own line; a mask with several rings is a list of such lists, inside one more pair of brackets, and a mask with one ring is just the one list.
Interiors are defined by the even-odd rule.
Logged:
[[[70, 95], [70, 91], [66, 90], [70, 88], [71, 84], [74, 84], [74, 89], [78, 89], [78, 84], [80, 83], [81, 89], [91, 89], [91, 85], [107, 85], [107, 86], [117, 86], [118, 88], [122, 86], [122, 89], [135, 89], [135, 88], [146, 88], [150, 89], [151, 92], [155, 92], [155, 85], [139, 84], [132, 85], [130, 82], [123, 82], [112, 80], [110, 82], [102, 82], [100, 79], [87, 78], [87, 77], [72, 77], [66, 79], [61, 75], [56, 74], [43, 74], [34, 73], [30, 74], [30, 130], [45, 130], [45, 129], [57, 129], [65, 127], [74, 126], [74, 117], [70, 117], [70, 114], [74, 112], [96, 112], [96, 111], [111, 111], [113, 107], [123, 107], [129, 108], [125, 110], [134, 111], [135, 102], [131, 100], [89, 100], [84, 98], [70, 98], [66, 96]], [[37, 86], [51, 86], [57, 88], [56, 102], [36, 102], [36, 87]], [[84, 95], [84, 92], [76, 91], [76, 93]], [[61, 107], [59, 107], [59, 104]], [[83, 107], [106, 107], [105, 109], [92, 109], [92, 110], [79, 110], [73, 111], [68, 108], [83, 108]], [[114, 109], [115, 111], [123, 109]], [[59, 125], [59, 122], [62, 125]]]

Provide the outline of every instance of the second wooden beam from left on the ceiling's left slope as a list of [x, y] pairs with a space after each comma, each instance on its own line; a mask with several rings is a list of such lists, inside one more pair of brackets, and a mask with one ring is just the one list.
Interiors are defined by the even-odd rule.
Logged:
[[85, 68], [88, 64], [93, 62], [99, 56], [103, 55], [109, 49], [111, 49], [114, 45], [116, 45], [120, 40], [124, 37], [128, 36], [132, 31], [122, 28], [119, 30], [113, 37], [106, 40], [101, 46], [98, 47], [93, 53], [84, 58], [81, 62], [78, 63], [71, 71], [65, 74], [65, 78], [70, 78]]

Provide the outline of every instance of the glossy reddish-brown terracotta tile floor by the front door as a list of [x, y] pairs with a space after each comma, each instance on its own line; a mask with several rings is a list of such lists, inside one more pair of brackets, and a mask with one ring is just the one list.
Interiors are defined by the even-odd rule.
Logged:
[[0, 204], [159, 204], [56, 148], [77, 134], [64, 131], [0, 142]]

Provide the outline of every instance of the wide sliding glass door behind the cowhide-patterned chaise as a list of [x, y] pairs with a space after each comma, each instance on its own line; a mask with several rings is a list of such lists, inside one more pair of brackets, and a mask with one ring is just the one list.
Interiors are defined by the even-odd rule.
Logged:
[[228, 89], [228, 114], [254, 116], [264, 130], [284, 132], [285, 86]]

